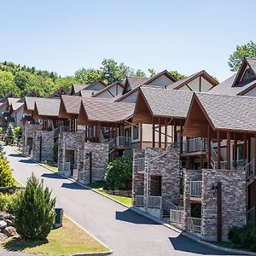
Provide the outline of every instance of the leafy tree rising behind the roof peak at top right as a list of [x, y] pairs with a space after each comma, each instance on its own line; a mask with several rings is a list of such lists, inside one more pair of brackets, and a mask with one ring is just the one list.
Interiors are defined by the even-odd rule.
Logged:
[[254, 44], [253, 41], [241, 46], [236, 46], [236, 50], [230, 55], [228, 62], [231, 67], [230, 70], [234, 72], [238, 71], [244, 57], [256, 58], [256, 44]]

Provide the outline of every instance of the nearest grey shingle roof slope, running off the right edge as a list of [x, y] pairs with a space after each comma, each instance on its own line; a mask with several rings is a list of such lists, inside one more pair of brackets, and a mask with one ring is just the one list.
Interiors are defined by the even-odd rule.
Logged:
[[256, 131], [256, 98], [195, 93], [216, 129]]

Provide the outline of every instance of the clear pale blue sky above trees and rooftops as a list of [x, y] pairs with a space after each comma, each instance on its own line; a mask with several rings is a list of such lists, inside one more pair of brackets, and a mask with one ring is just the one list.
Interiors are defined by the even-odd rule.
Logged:
[[64, 76], [113, 58], [223, 80], [236, 45], [256, 42], [255, 9], [253, 0], [2, 0], [0, 61]]

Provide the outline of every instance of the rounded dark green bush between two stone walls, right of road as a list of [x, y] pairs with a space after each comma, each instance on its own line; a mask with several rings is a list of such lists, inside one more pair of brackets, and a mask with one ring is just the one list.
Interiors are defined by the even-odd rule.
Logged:
[[127, 189], [132, 177], [132, 159], [125, 155], [108, 164], [105, 176], [108, 189]]

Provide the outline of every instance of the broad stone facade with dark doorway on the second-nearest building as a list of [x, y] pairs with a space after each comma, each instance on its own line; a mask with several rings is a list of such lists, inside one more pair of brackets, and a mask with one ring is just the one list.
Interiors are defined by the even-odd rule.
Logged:
[[[145, 166], [148, 166], [148, 172], [142, 174], [137, 172], [137, 161], [144, 157]], [[146, 167], [147, 168], [147, 167]], [[149, 174], [149, 175], [148, 175]], [[179, 170], [179, 151], [177, 148], [146, 148], [145, 150], [135, 150], [133, 154], [133, 178], [132, 178], [132, 199], [135, 200], [136, 195], [142, 195], [139, 191], [144, 188], [143, 195], [150, 194], [151, 177], [161, 177], [160, 192], [161, 196], [172, 201], [174, 204], [179, 203], [180, 196], [180, 170]], [[148, 179], [148, 181], [147, 181]], [[142, 183], [144, 184], [142, 185]], [[146, 198], [145, 198], [146, 203]]]

